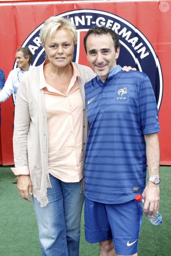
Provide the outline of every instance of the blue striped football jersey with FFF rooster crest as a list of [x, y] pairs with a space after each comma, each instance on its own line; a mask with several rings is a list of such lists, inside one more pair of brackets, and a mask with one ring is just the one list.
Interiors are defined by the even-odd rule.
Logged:
[[85, 84], [90, 131], [85, 154], [85, 197], [129, 202], [146, 183], [144, 134], [160, 131], [152, 85], [146, 74], [118, 65], [103, 83]]

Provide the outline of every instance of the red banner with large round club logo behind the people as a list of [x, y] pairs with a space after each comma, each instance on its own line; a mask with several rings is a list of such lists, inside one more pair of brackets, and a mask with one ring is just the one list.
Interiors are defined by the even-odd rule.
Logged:
[[[146, 73], [152, 82], [161, 128], [160, 164], [171, 165], [171, 0], [0, 4], [0, 69], [4, 70], [6, 79], [9, 72], [16, 67], [15, 52], [21, 46], [32, 51], [32, 65], [42, 63], [44, 49], [39, 41], [39, 31], [41, 24], [55, 15], [68, 15], [76, 24], [78, 43], [75, 46], [73, 61], [80, 64], [89, 66], [83, 49], [83, 36], [94, 24], [111, 27], [119, 34], [122, 45], [118, 64], [136, 67]], [[1, 103], [0, 163], [3, 165], [14, 163], [13, 112], [14, 105], [10, 96], [6, 102]]]

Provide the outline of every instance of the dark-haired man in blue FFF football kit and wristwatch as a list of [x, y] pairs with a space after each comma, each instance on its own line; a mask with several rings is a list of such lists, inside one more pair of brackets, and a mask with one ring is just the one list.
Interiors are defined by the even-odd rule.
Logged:
[[148, 216], [158, 212], [160, 200], [160, 127], [154, 92], [146, 74], [123, 72], [116, 65], [119, 46], [118, 34], [105, 26], [94, 26], [84, 37], [88, 61], [97, 75], [85, 84], [90, 123], [85, 238], [100, 242], [100, 256], [136, 256], [142, 212], [134, 197], [146, 198]]

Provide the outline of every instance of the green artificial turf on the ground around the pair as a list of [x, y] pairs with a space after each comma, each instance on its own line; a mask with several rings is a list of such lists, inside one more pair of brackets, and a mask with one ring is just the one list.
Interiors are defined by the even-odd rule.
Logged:
[[[32, 202], [23, 200], [9, 166], [0, 167], [0, 255], [41, 256], [36, 217]], [[163, 223], [154, 226], [144, 216], [139, 237], [139, 256], [171, 255], [171, 167], [160, 167], [160, 212]], [[81, 217], [80, 256], [98, 256], [98, 244], [88, 244]], [[57, 255], [60, 256], [60, 255]], [[74, 255], [71, 255], [74, 256]]]

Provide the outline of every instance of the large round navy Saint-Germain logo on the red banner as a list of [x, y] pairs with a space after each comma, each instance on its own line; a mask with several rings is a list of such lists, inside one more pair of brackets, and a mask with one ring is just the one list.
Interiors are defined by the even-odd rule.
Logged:
[[[131, 23], [125, 19], [105, 11], [92, 9], [80, 9], [59, 14], [60, 17], [69, 16], [75, 23], [78, 32], [78, 41], [75, 45], [73, 61], [80, 64], [85, 55], [83, 48], [83, 36], [86, 31], [95, 24], [110, 27], [120, 36], [121, 47], [117, 64], [136, 67], [137, 70], [148, 75], [157, 99], [157, 107], [160, 108], [163, 92], [162, 70], [159, 59], [148, 39]], [[42, 48], [39, 33], [42, 24], [38, 26], [24, 41], [22, 47], [30, 49], [33, 55], [32, 65], [38, 66], [45, 59], [45, 50]], [[86, 65], [86, 64], [85, 64]], [[14, 64], [14, 68], [17, 63]]]

